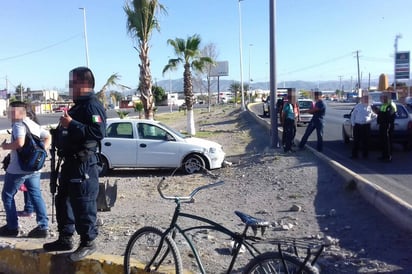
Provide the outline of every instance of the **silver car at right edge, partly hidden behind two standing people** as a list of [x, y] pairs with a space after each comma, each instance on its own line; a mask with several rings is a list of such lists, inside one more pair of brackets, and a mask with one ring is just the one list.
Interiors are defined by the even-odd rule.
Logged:
[[[380, 108], [382, 103], [375, 103], [372, 108]], [[399, 143], [403, 146], [404, 150], [412, 149], [412, 108], [405, 106], [399, 102], [396, 103], [396, 118], [395, 128], [392, 134], [392, 140], [394, 143]], [[342, 124], [342, 138], [344, 143], [349, 143], [353, 140], [352, 124], [350, 117], [353, 109], [350, 113], [344, 114], [345, 120]], [[376, 119], [371, 122], [371, 143], [377, 144], [379, 142], [379, 125]]]

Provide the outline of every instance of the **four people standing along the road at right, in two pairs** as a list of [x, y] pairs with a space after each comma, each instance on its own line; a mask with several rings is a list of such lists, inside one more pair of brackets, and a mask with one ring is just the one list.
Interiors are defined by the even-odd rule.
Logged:
[[[323, 150], [323, 127], [326, 106], [321, 98], [321, 92], [314, 92], [315, 105], [309, 110], [313, 116], [306, 128], [306, 131], [299, 143], [299, 149], [303, 149], [310, 134], [316, 130], [317, 145], [319, 152]], [[379, 124], [379, 136], [382, 145], [382, 156], [379, 160], [384, 162], [392, 161], [392, 133], [396, 117], [396, 104], [391, 100], [389, 93], [383, 93], [379, 108], [373, 109], [369, 104], [367, 94], [360, 98], [351, 114], [351, 124], [353, 128], [353, 147], [351, 159], [358, 159], [359, 151], [362, 151], [363, 158], [368, 158], [368, 147], [370, 141], [370, 126], [374, 119]], [[282, 144], [284, 152], [293, 152], [294, 138], [296, 135], [296, 122], [298, 114], [296, 97], [288, 94], [281, 111], [281, 124], [283, 126]]]

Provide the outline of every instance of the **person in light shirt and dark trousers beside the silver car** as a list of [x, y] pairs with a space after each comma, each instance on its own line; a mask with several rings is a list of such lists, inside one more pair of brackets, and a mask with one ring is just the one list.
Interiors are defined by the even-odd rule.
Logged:
[[363, 95], [360, 102], [353, 108], [350, 116], [353, 128], [352, 159], [358, 158], [359, 149], [362, 148], [363, 158], [368, 158], [368, 141], [371, 131], [371, 122], [376, 118], [369, 105], [369, 96]]

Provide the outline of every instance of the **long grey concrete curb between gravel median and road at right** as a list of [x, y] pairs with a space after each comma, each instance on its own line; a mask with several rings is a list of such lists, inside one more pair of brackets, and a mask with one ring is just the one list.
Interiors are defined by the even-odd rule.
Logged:
[[[254, 117], [259, 124], [270, 130], [270, 124], [267, 123], [266, 120], [250, 111], [249, 114]], [[412, 206], [410, 204], [380, 186], [368, 181], [366, 178], [354, 173], [352, 170], [346, 168], [317, 150], [309, 146], [306, 146], [306, 148], [329, 164], [345, 180], [348, 182], [355, 182], [356, 188], [359, 190], [361, 195], [375, 208], [391, 219], [395, 224], [406, 231], [412, 232]]]

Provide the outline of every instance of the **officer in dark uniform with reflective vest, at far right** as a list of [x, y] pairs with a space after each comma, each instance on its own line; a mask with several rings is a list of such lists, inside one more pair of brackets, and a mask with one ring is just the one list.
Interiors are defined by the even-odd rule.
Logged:
[[382, 105], [377, 110], [379, 137], [382, 144], [382, 156], [378, 159], [384, 162], [392, 161], [392, 133], [395, 127], [396, 104], [392, 102], [390, 93], [381, 96]]

